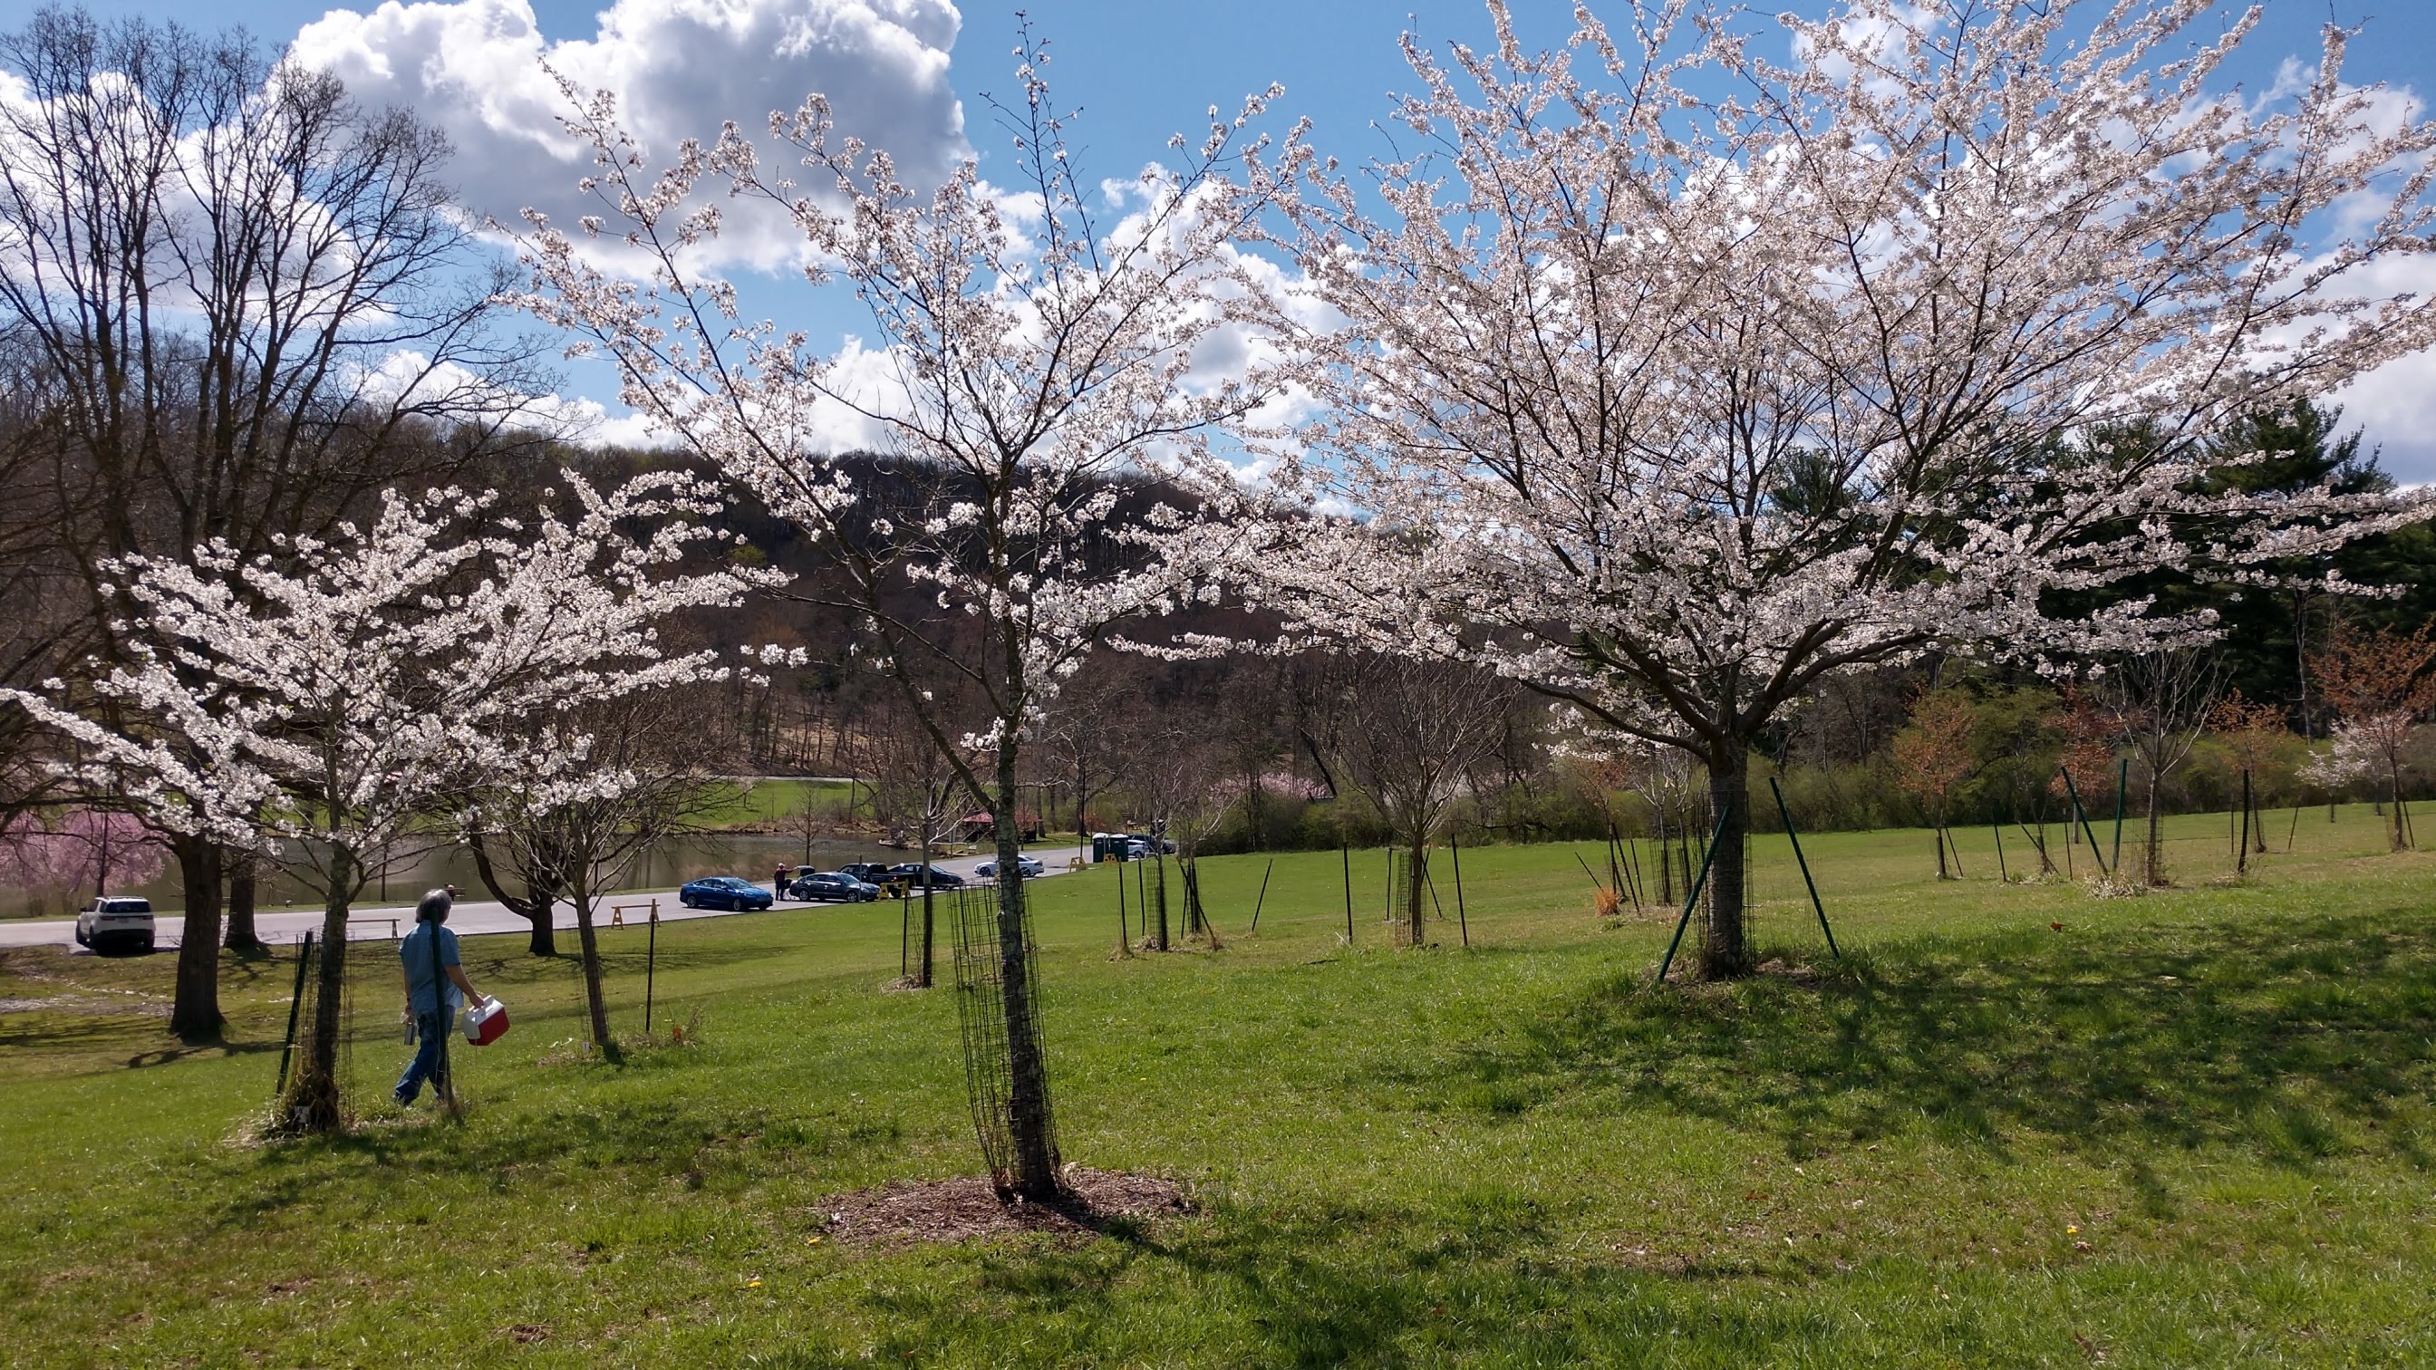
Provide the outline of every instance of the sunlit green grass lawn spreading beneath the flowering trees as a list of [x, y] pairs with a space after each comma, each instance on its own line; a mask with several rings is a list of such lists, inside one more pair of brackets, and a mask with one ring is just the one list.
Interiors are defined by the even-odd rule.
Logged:
[[[1065, 1155], [1199, 1199], [1089, 1241], [809, 1241], [979, 1165], [952, 995], [882, 990], [894, 904], [663, 926], [655, 1017], [702, 1036], [621, 1068], [570, 1048], [572, 963], [468, 939], [516, 1029], [458, 1053], [465, 1121], [275, 1146], [292, 960], [231, 960], [188, 1051], [171, 958], [7, 953], [0, 1360], [2429, 1365], [2436, 858], [2283, 822], [2229, 885], [2222, 814], [2175, 819], [2136, 900], [1998, 885], [1985, 831], [1959, 882], [1927, 834], [1817, 836], [1842, 963], [1764, 839], [1795, 973], [1722, 990], [1647, 987], [1671, 921], [1596, 919], [1596, 846], [1464, 851], [1471, 951], [1445, 861], [1423, 953], [1379, 851], [1352, 948], [1335, 853], [1276, 858], [1257, 936], [1267, 858], [1206, 863], [1223, 951], [1118, 958], [1118, 875], [1043, 882]], [[643, 934], [609, 960], [633, 1031]]]

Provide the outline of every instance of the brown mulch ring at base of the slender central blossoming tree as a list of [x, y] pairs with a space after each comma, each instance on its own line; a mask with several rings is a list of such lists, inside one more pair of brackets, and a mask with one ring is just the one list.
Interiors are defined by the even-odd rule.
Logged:
[[836, 1194], [821, 1204], [818, 1238], [838, 1246], [923, 1246], [1045, 1231], [1067, 1241], [1130, 1233], [1196, 1209], [1184, 1185], [1157, 1175], [1086, 1170], [1060, 1175], [1057, 1204], [1001, 1202], [987, 1175], [952, 1180], [892, 1180], [879, 1190]]

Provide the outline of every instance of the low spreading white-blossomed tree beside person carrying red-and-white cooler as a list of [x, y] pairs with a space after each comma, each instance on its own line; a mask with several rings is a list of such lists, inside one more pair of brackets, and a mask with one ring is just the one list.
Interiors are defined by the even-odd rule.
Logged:
[[[209, 544], [190, 563], [119, 566], [134, 661], [100, 687], [114, 731], [49, 697], [17, 695], [78, 741], [146, 817], [231, 846], [278, 848], [324, 895], [319, 1004], [295, 1126], [339, 1114], [339, 985], [351, 900], [373, 856], [485, 778], [514, 773], [560, 802], [621, 773], [587, 739], [536, 719], [723, 670], [709, 651], [667, 653], [658, 626], [687, 607], [733, 605], [748, 573], [685, 570], [716, 536], [704, 492], [646, 475], [597, 492], [572, 473], [565, 512], [502, 517], [495, 497], [390, 495], [365, 524], [295, 539], [290, 561], [241, 561]], [[633, 531], [648, 529], [648, 531]], [[217, 951], [188, 926], [185, 956]]]

